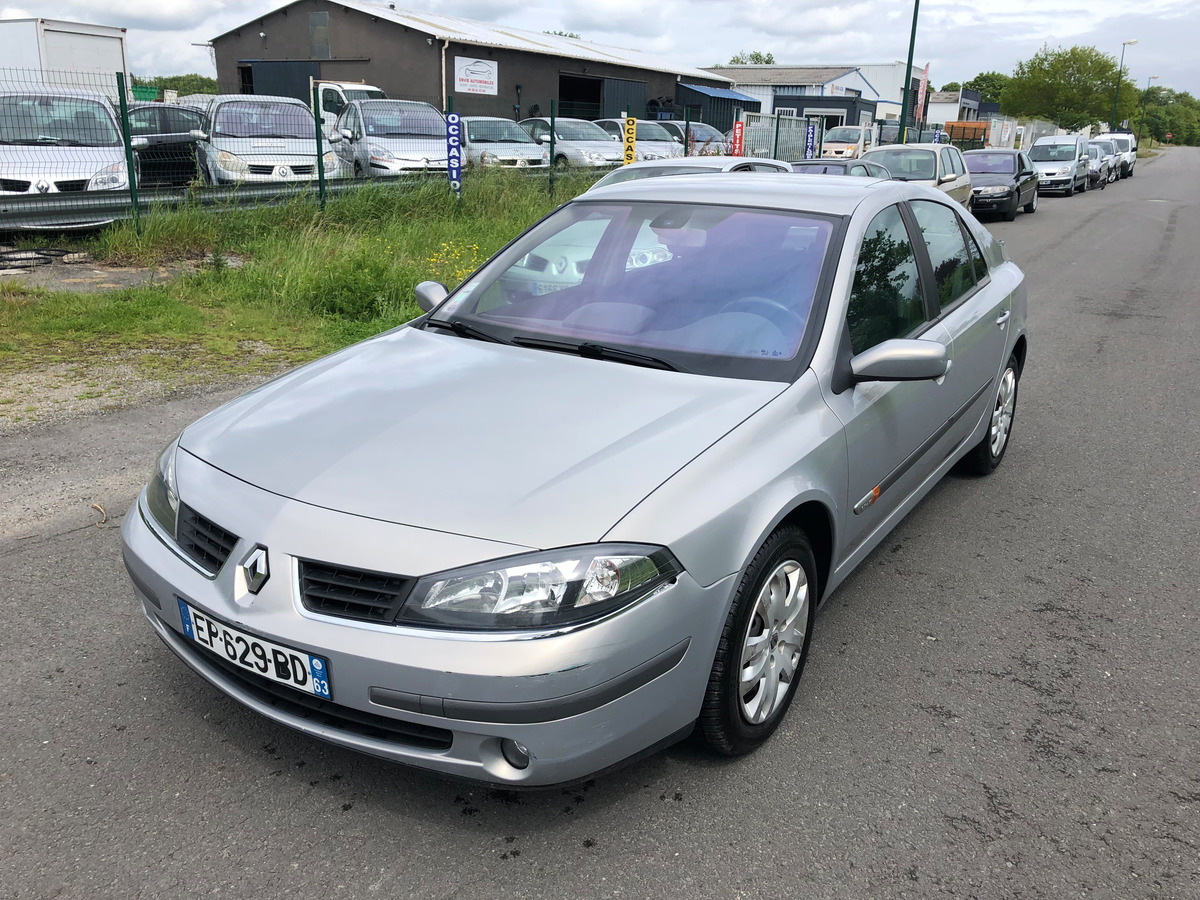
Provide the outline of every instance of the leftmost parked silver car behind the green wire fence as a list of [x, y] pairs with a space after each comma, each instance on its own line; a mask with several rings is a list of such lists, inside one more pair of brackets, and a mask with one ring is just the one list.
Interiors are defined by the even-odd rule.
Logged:
[[[139, 149], [145, 145], [142, 138], [134, 138], [133, 143]], [[121, 128], [102, 94], [53, 88], [0, 89], [0, 197], [124, 191], [128, 186]], [[56, 228], [89, 228], [110, 221], [110, 216], [97, 216], [80, 208], [74, 214], [55, 214], [46, 223]]]

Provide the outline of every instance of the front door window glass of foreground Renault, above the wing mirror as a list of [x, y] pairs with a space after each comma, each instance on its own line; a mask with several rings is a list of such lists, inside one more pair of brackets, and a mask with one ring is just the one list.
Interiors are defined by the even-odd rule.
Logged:
[[866, 228], [858, 250], [846, 324], [854, 353], [912, 334], [925, 320], [917, 256], [899, 206], [888, 206]]

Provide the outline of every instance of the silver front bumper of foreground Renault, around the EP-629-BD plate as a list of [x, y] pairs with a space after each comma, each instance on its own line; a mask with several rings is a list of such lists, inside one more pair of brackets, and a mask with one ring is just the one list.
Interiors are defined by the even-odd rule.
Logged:
[[[210, 511], [229, 511], [217, 517], [222, 527], [250, 536], [210, 577], [152, 522], [143, 493], [121, 529], [126, 568], [162, 641], [210, 684], [269, 719], [448, 775], [544, 786], [678, 739], [700, 714], [733, 576], [702, 588], [683, 574], [619, 613], [558, 632], [451, 632], [334, 618], [302, 605], [298, 559], [336, 559], [347, 535], [374, 548], [367, 556], [388, 548], [376, 558], [382, 571], [414, 571], [419, 560], [403, 559], [404, 548], [431, 539], [463, 559], [494, 557], [505, 545], [416, 535], [420, 529], [319, 510], [194, 460], [180, 472]], [[272, 574], [252, 598], [238, 563], [256, 545], [269, 548]], [[450, 557], [434, 553], [434, 565]], [[360, 556], [346, 565], [365, 563]], [[324, 656], [332, 700], [274, 685], [186, 637], [179, 599], [260, 638]], [[528, 748], [526, 768], [505, 758], [504, 739]]]

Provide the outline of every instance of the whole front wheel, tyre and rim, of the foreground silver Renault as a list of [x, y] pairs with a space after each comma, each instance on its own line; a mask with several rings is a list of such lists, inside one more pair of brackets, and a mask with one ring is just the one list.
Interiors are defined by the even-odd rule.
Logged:
[[779, 727], [808, 660], [816, 601], [808, 535], [779, 528], [746, 566], [721, 630], [697, 730], [712, 750], [749, 754]]

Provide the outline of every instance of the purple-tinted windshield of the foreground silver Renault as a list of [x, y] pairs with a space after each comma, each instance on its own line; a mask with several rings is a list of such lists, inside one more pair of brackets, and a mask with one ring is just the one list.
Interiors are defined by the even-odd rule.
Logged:
[[833, 228], [808, 214], [577, 202], [510, 245], [437, 317], [620, 344], [694, 372], [785, 361], [808, 328]]

